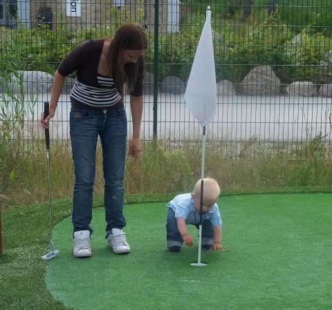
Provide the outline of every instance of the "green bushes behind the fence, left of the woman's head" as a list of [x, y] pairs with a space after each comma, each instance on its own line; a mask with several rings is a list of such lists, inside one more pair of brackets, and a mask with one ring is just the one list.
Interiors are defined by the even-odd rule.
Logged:
[[[142, 9], [138, 9], [142, 15]], [[15, 61], [18, 70], [41, 70], [54, 74], [57, 66], [78, 44], [87, 39], [113, 37], [116, 29], [123, 20], [133, 21], [125, 10], [118, 10], [112, 6], [109, 12], [112, 24], [97, 25], [86, 28], [69, 28], [64, 13], [56, 16], [53, 30], [44, 23], [38, 23], [35, 28], [26, 28], [17, 21], [15, 28], [0, 27], [0, 72], [4, 68], [5, 61]]]

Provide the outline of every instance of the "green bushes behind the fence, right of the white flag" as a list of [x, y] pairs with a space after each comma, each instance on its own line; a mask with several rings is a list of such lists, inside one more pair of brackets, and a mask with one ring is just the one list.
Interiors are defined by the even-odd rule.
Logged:
[[[279, 12], [266, 17], [263, 23], [248, 27], [243, 38], [225, 31], [224, 45], [215, 46], [217, 76], [239, 83], [255, 66], [273, 66], [282, 81], [310, 80], [315, 83], [329, 81], [331, 50], [329, 37], [308, 26], [293, 35]], [[221, 64], [221, 65], [219, 65]], [[325, 66], [322, 66], [325, 64]]]

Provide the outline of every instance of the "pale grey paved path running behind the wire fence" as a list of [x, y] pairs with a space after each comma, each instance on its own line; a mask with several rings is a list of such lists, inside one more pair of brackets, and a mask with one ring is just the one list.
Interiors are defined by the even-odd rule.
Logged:
[[[37, 97], [34, 113], [28, 111], [28, 119], [39, 122], [43, 102], [49, 95]], [[129, 98], [126, 97], [127, 115], [130, 119]], [[153, 134], [154, 98], [145, 97], [142, 119], [142, 137], [151, 139]], [[67, 139], [68, 96], [59, 100], [57, 113], [53, 118], [53, 138]], [[28, 103], [26, 103], [28, 110]], [[322, 97], [219, 97], [216, 115], [208, 125], [208, 137], [241, 141], [257, 137], [260, 141], [296, 141], [307, 139], [322, 132], [330, 138], [331, 98]], [[158, 137], [178, 141], [201, 137], [201, 128], [185, 104], [184, 96], [158, 96]], [[131, 132], [129, 123], [129, 133]]]

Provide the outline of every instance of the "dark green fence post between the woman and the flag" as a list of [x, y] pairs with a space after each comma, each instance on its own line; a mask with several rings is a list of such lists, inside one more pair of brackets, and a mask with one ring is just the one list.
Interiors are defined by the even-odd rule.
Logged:
[[158, 118], [158, 35], [159, 35], [159, 0], [154, 3], [154, 138], [157, 137]]

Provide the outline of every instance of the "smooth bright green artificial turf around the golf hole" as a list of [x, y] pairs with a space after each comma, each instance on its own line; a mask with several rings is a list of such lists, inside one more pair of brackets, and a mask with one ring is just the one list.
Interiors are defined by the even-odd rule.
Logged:
[[331, 194], [221, 197], [224, 251], [167, 251], [165, 203], [124, 206], [131, 253], [104, 240], [93, 210], [91, 258], [73, 257], [71, 220], [54, 229], [59, 256], [47, 263], [56, 300], [84, 309], [331, 309]]

